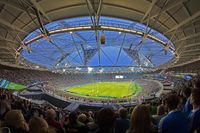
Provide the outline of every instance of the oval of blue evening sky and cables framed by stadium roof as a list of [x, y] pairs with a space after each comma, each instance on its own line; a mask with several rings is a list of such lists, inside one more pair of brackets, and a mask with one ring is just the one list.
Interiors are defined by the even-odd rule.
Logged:
[[[21, 63], [29, 61], [51, 70], [77, 67], [82, 70], [104, 68], [102, 71], [107, 71], [106, 67], [109, 71], [122, 67], [143, 69], [166, 63], [175, 51], [170, 40], [157, 31], [117, 18], [101, 16], [97, 32], [90, 17], [54, 21], [44, 27], [48, 38], [37, 29], [23, 40], [28, 47], [21, 52]], [[100, 40], [98, 36], [105, 37], [105, 44], [97, 41]]]

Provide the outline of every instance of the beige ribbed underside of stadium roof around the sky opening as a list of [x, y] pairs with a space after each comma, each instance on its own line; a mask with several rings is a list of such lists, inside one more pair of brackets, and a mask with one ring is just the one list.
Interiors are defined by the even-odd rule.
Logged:
[[29, 33], [40, 28], [49, 39], [46, 24], [81, 16], [91, 17], [93, 30], [98, 30], [101, 16], [142, 23], [146, 29], [150, 27], [164, 34], [174, 44], [175, 65], [197, 60], [199, 4], [199, 0], [0, 0], [0, 60], [21, 65], [16, 63], [18, 50], [28, 49], [24, 39]]

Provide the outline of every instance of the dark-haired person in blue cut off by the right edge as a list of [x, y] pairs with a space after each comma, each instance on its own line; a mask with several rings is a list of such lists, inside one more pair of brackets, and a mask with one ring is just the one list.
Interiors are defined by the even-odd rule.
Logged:
[[188, 116], [190, 132], [200, 132], [200, 89], [193, 89], [191, 93], [193, 110]]

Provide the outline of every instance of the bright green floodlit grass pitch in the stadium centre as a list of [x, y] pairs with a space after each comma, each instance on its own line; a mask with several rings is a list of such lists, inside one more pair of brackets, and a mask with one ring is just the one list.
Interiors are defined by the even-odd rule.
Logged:
[[97, 82], [73, 86], [65, 91], [72, 95], [90, 98], [123, 98], [137, 95], [142, 90], [134, 82]]

